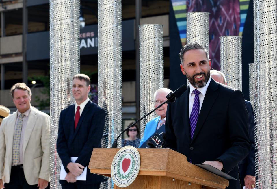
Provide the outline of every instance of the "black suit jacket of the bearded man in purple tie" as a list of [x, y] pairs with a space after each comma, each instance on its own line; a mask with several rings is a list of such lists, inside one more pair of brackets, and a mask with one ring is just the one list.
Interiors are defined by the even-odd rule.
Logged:
[[188, 88], [179, 99], [168, 104], [163, 148], [184, 154], [193, 164], [222, 161], [223, 171], [238, 179], [229, 180], [229, 188], [241, 188], [237, 165], [250, 150], [248, 114], [242, 92], [211, 79], [191, 140]]

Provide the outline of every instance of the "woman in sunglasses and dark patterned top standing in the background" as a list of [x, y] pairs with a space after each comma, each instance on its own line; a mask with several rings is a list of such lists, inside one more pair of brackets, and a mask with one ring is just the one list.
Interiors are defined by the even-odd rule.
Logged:
[[[133, 123], [131, 123], [130, 125], [132, 124]], [[122, 147], [133, 146], [137, 148], [140, 145], [140, 138], [137, 138], [139, 133], [140, 133], [140, 130], [138, 129], [137, 125], [134, 125], [133, 127], [129, 128], [126, 132], [128, 138], [126, 139], [122, 138]]]

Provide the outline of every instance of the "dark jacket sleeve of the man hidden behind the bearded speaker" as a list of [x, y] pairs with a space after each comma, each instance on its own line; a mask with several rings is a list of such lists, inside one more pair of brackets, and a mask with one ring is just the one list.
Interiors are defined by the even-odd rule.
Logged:
[[254, 111], [249, 101], [245, 100], [245, 105], [248, 112], [248, 132], [251, 149], [248, 156], [244, 158], [241, 162], [239, 162], [239, 176], [243, 186], [245, 175], [255, 176]]

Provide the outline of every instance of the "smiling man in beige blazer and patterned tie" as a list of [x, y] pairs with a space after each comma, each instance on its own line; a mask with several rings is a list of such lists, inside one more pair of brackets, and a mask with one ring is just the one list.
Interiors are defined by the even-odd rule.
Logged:
[[50, 174], [50, 117], [31, 106], [25, 83], [14, 84], [11, 94], [17, 111], [0, 127], [0, 188], [44, 189]]

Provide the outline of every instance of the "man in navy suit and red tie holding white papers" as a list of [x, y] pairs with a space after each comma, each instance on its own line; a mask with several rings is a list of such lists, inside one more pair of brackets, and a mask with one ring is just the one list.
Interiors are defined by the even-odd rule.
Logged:
[[[59, 120], [57, 152], [66, 168], [63, 189], [98, 189], [103, 177], [87, 170], [86, 180], [77, 181], [88, 166], [93, 148], [101, 147], [105, 112], [88, 98], [90, 78], [84, 74], [73, 77], [72, 93], [76, 101], [62, 110]], [[78, 157], [71, 162], [71, 157]]]

